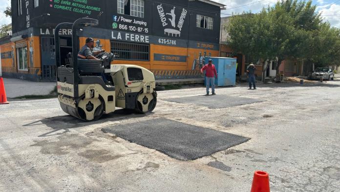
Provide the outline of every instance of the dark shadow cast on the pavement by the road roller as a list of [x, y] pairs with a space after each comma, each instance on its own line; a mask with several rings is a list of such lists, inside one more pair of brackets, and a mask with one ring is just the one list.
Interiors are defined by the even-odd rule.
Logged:
[[[126, 119], [131, 119], [131, 118], [138, 118], [138, 117], [145, 117], [148, 115], [151, 115], [152, 113], [149, 114], [135, 114], [132, 111], [128, 111], [125, 109], [118, 109], [113, 113], [110, 114], [105, 114], [102, 116], [101, 119], [97, 121], [82, 121], [76, 117], [73, 117], [71, 115], [63, 115], [63, 116], [55, 116], [55, 117], [48, 117], [44, 118], [38, 121], [34, 121], [32, 123], [23, 125], [23, 127], [28, 127], [28, 126], [36, 126], [36, 125], [41, 125], [44, 124], [49, 128], [52, 128], [53, 130], [50, 132], [47, 132], [45, 134], [41, 134], [38, 137], [46, 137], [46, 136], [53, 136], [53, 135], [59, 135], [59, 134], [65, 134], [70, 132], [69, 129], [74, 129], [74, 128], [79, 128], [79, 127], [85, 127], [89, 125], [94, 125], [94, 124], [100, 124], [104, 123], [106, 121], [120, 121], [120, 120], [126, 120]], [[59, 132], [62, 131], [63, 132]]]

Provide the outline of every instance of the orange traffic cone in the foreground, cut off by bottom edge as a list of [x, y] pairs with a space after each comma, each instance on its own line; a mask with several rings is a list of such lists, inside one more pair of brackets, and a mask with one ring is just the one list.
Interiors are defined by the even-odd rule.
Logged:
[[270, 192], [268, 173], [262, 171], [256, 171], [254, 173], [251, 192]]

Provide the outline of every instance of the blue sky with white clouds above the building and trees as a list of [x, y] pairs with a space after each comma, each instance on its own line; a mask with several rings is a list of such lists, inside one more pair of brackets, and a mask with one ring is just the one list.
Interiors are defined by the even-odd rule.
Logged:
[[[214, 0], [214, 1], [226, 5], [226, 9], [228, 10], [222, 11], [221, 17], [227, 17], [229, 16], [228, 14], [233, 13], [237, 14], [242, 13], [243, 11], [250, 10], [253, 13], [257, 13], [262, 9], [262, 7], [267, 7], [268, 5], [273, 6], [277, 0]], [[328, 20], [332, 24], [332, 26], [340, 28], [340, 0], [313, 0], [313, 3], [318, 6], [317, 11], [322, 13], [321, 15], [325, 20]], [[10, 5], [11, 0], [0, 0], [0, 25], [11, 23], [11, 18], [6, 18], [5, 15], [3, 14], [5, 8]]]

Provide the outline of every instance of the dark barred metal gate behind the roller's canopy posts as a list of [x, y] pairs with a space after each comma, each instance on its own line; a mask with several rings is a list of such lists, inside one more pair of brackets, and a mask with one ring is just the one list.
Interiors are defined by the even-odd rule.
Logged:
[[43, 79], [56, 78], [56, 52], [53, 37], [41, 37]]

